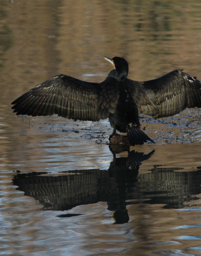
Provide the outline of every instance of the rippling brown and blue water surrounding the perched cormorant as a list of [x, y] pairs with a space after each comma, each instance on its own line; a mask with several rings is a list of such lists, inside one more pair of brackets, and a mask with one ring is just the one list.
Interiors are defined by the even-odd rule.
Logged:
[[175, 68], [201, 79], [200, 1], [1, 1], [0, 254], [200, 255], [200, 110], [142, 127], [114, 155], [108, 120], [17, 117], [11, 102], [64, 73], [100, 82]]

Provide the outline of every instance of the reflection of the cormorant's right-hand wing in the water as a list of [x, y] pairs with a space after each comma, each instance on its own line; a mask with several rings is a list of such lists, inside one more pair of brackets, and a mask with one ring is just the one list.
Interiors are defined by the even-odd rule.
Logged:
[[201, 193], [201, 170], [177, 171], [181, 168], [154, 167], [149, 174], [138, 176], [136, 184], [137, 193], [143, 193], [143, 198], [148, 204], [165, 204], [164, 208], [183, 208], [183, 204], [197, 200]]

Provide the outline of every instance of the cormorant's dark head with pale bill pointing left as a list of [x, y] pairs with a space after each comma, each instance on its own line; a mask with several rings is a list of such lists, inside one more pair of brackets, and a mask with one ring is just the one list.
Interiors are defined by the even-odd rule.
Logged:
[[125, 59], [121, 57], [114, 57], [112, 59], [108, 57], [104, 57], [105, 60], [109, 61], [114, 68], [116, 69], [116, 72], [118, 73], [116, 79], [123, 82], [128, 76], [128, 63]]

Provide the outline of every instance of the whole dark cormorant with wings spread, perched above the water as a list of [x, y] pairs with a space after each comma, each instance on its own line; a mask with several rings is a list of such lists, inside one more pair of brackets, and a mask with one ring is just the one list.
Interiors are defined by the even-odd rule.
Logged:
[[154, 119], [169, 117], [185, 108], [201, 107], [201, 83], [196, 77], [175, 69], [149, 81], [127, 78], [128, 62], [122, 57], [104, 57], [114, 69], [100, 83], [78, 80], [68, 75], [54, 76], [36, 85], [12, 102], [16, 115], [53, 115], [75, 121], [109, 119], [110, 136], [127, 133], [132, 146], [152, 142], [140, 130], [139, 112]]

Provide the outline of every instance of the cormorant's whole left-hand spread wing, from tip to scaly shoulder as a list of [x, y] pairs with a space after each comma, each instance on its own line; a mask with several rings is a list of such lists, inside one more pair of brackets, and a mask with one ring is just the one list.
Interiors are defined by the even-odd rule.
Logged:
[[115, 112], [119, 93], [113, 80], [108, 77], [97, 84], [58, 75], [24, 93], [12, 102], [12, 109], [17, 115], [58, 114], [74, 120], [99, 121]]

